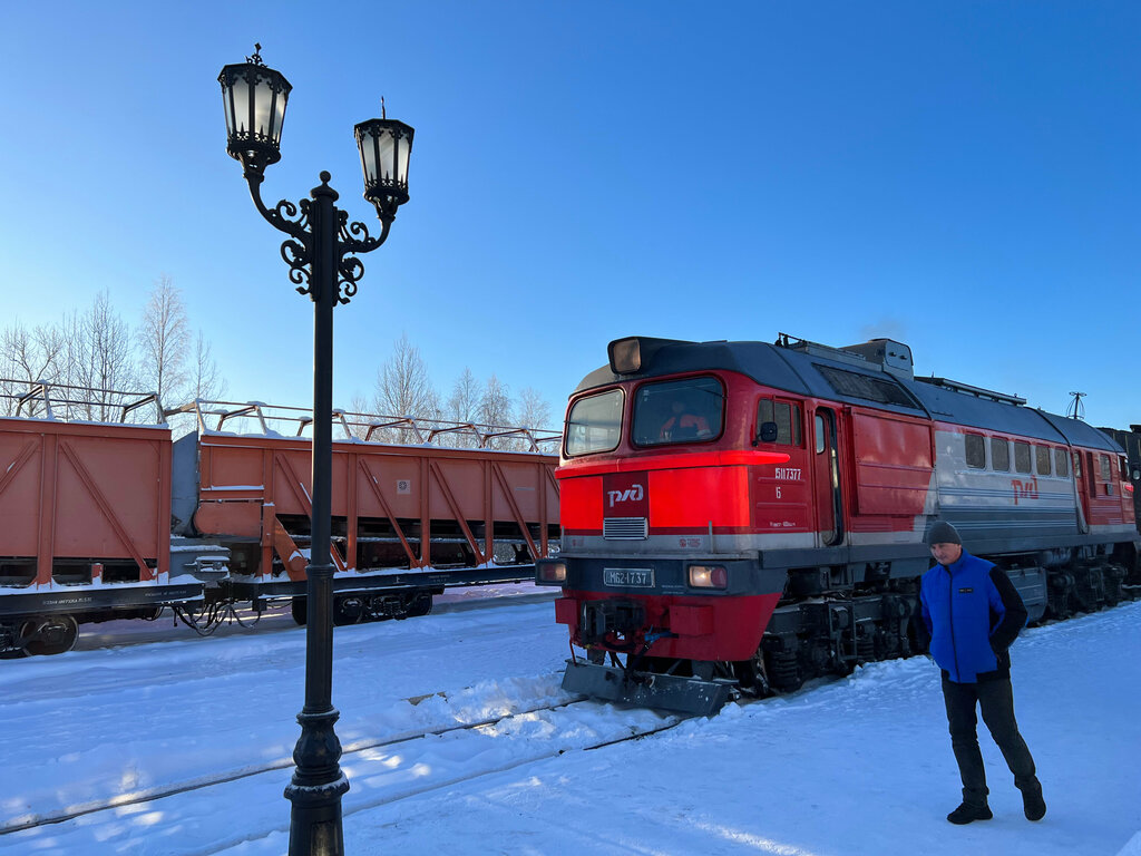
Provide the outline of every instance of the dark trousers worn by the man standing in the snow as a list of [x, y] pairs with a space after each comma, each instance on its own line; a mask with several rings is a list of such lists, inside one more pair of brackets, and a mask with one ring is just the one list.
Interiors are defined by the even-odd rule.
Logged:
[[958, 774], [963, 778], [964, 802], [986, 805], [989, 793], [976, 730], [976, 706], [982, 710], [982, 721], [987, 724], [990, 736], [1006, 759], [1006, 766], [1014, 774], [1014, 785], [1023, 790], [1037, 784], [1034, 758], [1030, 757], [1022, 735], [1018, 733], [1018, 722], [1014, 720], [1014, 692], [1010, 678], [955, 684], [944, 675], [942, 698], [947, 704], [950, 745], [955, 750]]

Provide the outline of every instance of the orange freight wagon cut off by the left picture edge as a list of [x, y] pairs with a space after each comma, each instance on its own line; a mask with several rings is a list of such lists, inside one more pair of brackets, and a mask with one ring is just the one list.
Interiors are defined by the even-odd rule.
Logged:
[[170, 447], [165, 425], [0, 419], [0, 652], [202, 599], [171, 565]]

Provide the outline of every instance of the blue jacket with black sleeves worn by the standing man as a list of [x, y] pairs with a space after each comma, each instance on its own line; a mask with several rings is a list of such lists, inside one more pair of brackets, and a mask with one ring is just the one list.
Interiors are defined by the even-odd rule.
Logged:
[[1006, 648], [1026, 623], [1026, 607], [994, 564], [963, 550], [958, 562], [923, 575], [920, 600], [931, 656], [950, 680], [974, 684], [1010, 675]]

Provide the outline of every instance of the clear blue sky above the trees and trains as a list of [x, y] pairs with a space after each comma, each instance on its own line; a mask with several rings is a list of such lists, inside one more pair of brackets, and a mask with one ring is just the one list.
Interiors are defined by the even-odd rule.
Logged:
[[311, 306], [225, 152], [217, 75], [293, 83], [267, 201], [355, 122], [416, 129], [411, 201], [337, 310], [335, 403], [406, 331], [552, 409], [628, 334], [830, 345], [1141, 422], [1141, 5], [0, 0], [0, 324], [160, 274], [230, 396], [307, 404]]

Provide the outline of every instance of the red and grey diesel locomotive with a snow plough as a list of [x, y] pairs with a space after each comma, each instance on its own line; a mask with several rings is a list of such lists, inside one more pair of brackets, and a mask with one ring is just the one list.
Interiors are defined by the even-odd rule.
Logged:
[[570, 396], [557, 476], [561, 551], [536, 579], [563, 587], [556, 619], [585, 649], [564, 686], [602, 698], [709, 713], [915, 653], [936, 519], [1035, 620], [1139, 582], [1111, 437], [916, 378], [891, 340], [614, 341]]

